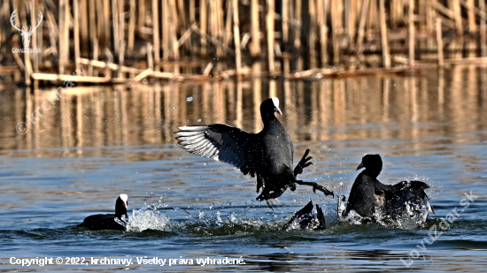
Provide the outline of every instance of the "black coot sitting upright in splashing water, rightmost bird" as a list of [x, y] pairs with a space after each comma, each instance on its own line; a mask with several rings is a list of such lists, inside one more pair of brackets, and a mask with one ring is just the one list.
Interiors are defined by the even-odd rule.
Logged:
[[428, 184], [422, 181], [401, 181], [385, 185], [377, 180], [383, 170], [381, 155], [364, 155], [357, 170], [365, 168], [353, 183], [344, 211], [344, 196], [339, 198], [338, 216], [347, 216], [355, 211], [363, 217], [362, 223], [382, 222], [390, 224], [408, 217], [423, 225], [429, 212], [435, 213], [424, 190]]

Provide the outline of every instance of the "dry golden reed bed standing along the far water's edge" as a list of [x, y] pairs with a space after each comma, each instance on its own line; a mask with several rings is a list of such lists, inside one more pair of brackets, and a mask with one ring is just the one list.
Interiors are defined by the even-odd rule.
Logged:
[[[4, 1], [0, 77], [29, 86], [148, 78], [300, 80], [487, 64], [485, 2]], [[41, 53], [14, 52], [24, 45], [13, 25], [25, 31], [38, 25], [28, 47]], [[73, 76], [81, 65], [86, 77]]]

